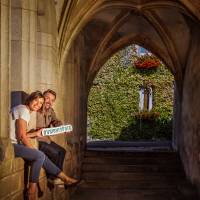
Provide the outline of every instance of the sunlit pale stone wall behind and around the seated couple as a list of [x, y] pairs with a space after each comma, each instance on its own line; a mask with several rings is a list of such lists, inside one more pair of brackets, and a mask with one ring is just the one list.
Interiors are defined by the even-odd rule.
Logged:
[[[9, 140], [9, 109], [11, 92], [34, 90], [44, 91], [51, 88], [57, 91], [55, 111], [64, 123], [74, 123], [75, 108], [72, 87], [68, 105], [66, 82], [60, 85], [58, 65], [58, 32], [55, 5], [53, 0], [1, 0], [1, 68], [0, 68], [0, 199], [22, 200], [25, 187], [24, 161], [14, 158]], [[67, 67], [67, 66], [65, 66]], [[65, 76], [64, 76], [65, 77]], [[76, 77], [74, 77], [76, 78]], [[62, 82], [63, 83], [63, 82]], [[76, 81], [74, 80], [76, 84]], [[66, 113], [66, 110], [72, 112]], [[77, 108], [78, 110], [78, 108]], [[68, 117], [66, 117], [68, 116]], [[69, 117], [70, 116], [70, 117]], [[64, 171], [70, 176], [79, 176], [77, 155], [79, 155], [79, 130], [75, 128], [72, 136], [64, 134], [53, 137], [67, 153]], [[71, 138], [71, 139], [70, 139]], [[70, 141], [70, 142], [69, 142]], [[77, 142], [78, 141], [78, 142]], [[39, 185], [44, 192], [39, 199], [69, 199], [72, 190], [55, 187], [50, 190], [44, 170], [41, 171]]]

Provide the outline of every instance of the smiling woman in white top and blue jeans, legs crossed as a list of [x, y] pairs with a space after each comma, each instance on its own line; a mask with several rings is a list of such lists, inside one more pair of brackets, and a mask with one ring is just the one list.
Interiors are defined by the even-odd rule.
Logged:
[[39, 181], [40, 169], [60, 178], [66, 185], [74, 185], [78, 181], [65, 175], [45, 154], [35, 149], [30, 143], [30, 138], [41, 137], [42, 129], [27, 134], [27, 125], [30, 121], [30, 113], [38, 111], [44, 103], [44, 96], [40, 91], [31, 93], [25, 105], [18, 105], [11, 110], [10, 138], [14, 146], [15, 157], [31, 161], [30, 178], [28, 185], [28, 199], [37, 197], [36, 186]]

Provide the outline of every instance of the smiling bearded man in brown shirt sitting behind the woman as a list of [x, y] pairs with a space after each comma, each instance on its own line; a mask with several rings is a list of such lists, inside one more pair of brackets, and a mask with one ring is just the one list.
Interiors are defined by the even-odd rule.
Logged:
[[[49, 128], [62, 125], [62, 122], [57, 119], [56, 114], [53, 110], [53, 104], [56, 100], [56, 93], [53, 90], [46, 90], [43, 93], [45, 97], [43, 109], [41, 112], [37, 112], [36, 127], [38, 128]], [[58, 168], [63, 169], [63, 162], [65, 159], [66, 150], [60, 145], [56, 144], [51, 140], [51, 137], [45, 136], [39, 141], [39, 150], [43, 151], [48, 158], [56, 164]], [[47, 174], [49, 181], [53, 181], [54, 184], [60, 184], [60, 180]]]

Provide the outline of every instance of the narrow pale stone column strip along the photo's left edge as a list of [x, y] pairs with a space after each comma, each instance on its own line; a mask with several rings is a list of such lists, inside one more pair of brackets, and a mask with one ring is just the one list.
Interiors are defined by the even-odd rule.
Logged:
[[[0, 179], [7, 173], [6, 167], [13, 158], [9, 141], [9, 108], [10, 108], [10, 1], [0, 1], [1, 11], [1, 57], [0, 57]], [[8, 160], [8, 161], [7, 161]], [[3, 161], [3, 162], [1, 162]], [[8, 169], [9, 172], [9, 169]], [[0, 187], [1, 187], [0, 181]], [[0, 191], [1, 198], [1, 191]]]

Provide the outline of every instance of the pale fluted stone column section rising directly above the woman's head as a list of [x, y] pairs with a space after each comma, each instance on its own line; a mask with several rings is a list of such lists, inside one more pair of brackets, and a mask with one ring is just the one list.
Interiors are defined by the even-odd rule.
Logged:
[[11, 91], [35, 84], [37, 0], [11, 1]]

